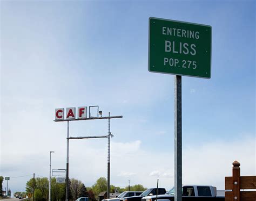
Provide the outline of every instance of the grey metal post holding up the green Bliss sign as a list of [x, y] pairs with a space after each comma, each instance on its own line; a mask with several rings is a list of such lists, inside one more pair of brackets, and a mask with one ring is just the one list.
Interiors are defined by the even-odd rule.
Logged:
[[174, 200], [182, 199], [181, 76], [174, 76]]

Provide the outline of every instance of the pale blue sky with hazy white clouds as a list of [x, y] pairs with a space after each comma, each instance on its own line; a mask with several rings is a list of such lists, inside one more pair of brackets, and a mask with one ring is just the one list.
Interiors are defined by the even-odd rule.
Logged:
[[[50, 150], [52, 168], [65, 168], [66, 124], [52, 121], [55, 108], [99, 105], [104, 116], [124, 116], [111, 120], [111, 184], [150, 188], [159, 177], [171, 188], [173, 75], [147, 70], [149, 17], [212, 26], [211, 79], [182, 81], [183, 182], [224, 189], [234, 160], [244, 175], [256, 174], [254, 1], [0, 5], [0, 175], [48, 176]], [[107, 121], [72, 122], [70, 133], [106, 134]], [[106, 153], [103, 139], [71, 142], [70, 177], [86, 186], [106, 177]], [[10, 188], [24, 190], [29, 178], [11, 180]]]

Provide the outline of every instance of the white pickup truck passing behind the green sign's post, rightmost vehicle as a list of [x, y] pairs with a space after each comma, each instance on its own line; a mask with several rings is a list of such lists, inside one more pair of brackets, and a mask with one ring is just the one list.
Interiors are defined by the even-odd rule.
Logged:
[[[142, 201], [173, 201], [174, 187], [165, 195], [146, 196]], [[217, 189], [212, 185], [183, 185], [182, 186], [182, 200], [200, 201], [200, 200], [218, 200], [225, 201], [225, 196], [218, 196]]]

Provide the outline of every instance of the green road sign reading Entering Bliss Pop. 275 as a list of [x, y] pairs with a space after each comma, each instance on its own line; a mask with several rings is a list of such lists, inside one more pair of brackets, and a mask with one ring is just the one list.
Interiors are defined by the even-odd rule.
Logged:
[[212, 27], [149, 18], [149, 71], [211, 78]]

